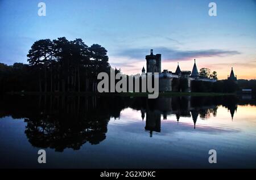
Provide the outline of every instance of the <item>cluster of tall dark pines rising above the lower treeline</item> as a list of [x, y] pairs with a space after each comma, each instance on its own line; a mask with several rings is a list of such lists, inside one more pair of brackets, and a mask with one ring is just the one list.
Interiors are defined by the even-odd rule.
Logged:
[[[109, 72], [108, 51], [98, 44], [88, 47], [81, 38], [68, 41], [65, 37], [57, 40], [34, 42], [28, 52], [28, 63], [38, 71], [39, 91], [81, 90], [81, 76], [85, 91], [96, 91], [98, 72]], [[49, 88], [47, 87], [49, 83]]]

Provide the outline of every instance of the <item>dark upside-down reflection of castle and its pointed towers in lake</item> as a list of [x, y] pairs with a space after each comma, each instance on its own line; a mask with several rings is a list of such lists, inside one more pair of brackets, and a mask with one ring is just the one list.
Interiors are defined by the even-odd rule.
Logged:
[[[148, 102], [146, 108], [141, 109], [142, 120], [144, 120], [146, 114], [145, 130], [150, 131], [150, 137], [152, 137], [153, 131], [161, 131], [160, 120], [162, 115], [163, 119], [167, 119], [168, 115], [173, 114], [176, 115], [177, 123], [179, 123], [180, 117], [192, 117], [194, 128], [196, 128], [199, 115], [204, 119], [207, 119], [210, 114], [216, 116], [218, 104], [213, 102], [214, 98], [216, 97], [159, 97], [154, 102]], [[234, 112], [237, 110], [236, 98], [232, 99], [234, 100], [233, 103], [222, 104], [228, 108], [231, 119], [233, 119]]]

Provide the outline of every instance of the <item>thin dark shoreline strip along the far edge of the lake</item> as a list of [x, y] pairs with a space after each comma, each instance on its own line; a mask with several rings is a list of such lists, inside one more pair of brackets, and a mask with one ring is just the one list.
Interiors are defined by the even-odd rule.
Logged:
[[[32, 96], [123, 96], [123, 97], [146, 97], [146, 92], [122, 92], [122, 93], [93, 93], [93, 92], [7, 92], [7, 95], [32, 95]], [[227, 96], [236, 93], [214, 92], [159, 92], [159, 97], [172, 96]]]

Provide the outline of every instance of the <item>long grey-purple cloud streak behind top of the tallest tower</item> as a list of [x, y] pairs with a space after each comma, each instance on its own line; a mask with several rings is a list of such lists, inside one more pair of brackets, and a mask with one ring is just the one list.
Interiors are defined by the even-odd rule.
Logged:
[[[134, 59], [144, 59], [145, 55], [149, 53], [150, 48], [134, 48], [121, 50], [117, 55], [122, 57], [129, 57]], [[226, 57], [229, 55], [241, 54], [236, 50], [179, 50], [171, 48], [154, 48], [154, 52], [162, 54], [164, 61], [187, 61], [193, 58], [201, 57]]]

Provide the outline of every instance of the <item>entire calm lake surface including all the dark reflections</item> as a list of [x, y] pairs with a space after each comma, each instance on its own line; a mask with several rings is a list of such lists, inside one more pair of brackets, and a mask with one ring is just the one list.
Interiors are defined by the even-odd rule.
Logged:
[[[38, 163], [39, 149], [46, 164]], [[217, 164], [209, 164], [210, 149]], [[255, 100], [10, 96], [1, 168], [256, 168]]]

